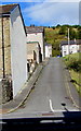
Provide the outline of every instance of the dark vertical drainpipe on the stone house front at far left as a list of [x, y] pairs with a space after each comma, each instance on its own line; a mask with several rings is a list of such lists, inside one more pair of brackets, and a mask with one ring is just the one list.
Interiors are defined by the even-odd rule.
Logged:
[[2, 15], [2, 60], [3, 60], [3, 79], [5, 78], [4, 71], [4, 37], [3, 37], [3, 15]]

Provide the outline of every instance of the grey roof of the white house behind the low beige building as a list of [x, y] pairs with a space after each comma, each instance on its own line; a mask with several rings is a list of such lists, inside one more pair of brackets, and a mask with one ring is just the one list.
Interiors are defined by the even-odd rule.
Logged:
[[27, 34], [31, 33], [43, 33], [44, 28], [42, 26], [26, 26]]

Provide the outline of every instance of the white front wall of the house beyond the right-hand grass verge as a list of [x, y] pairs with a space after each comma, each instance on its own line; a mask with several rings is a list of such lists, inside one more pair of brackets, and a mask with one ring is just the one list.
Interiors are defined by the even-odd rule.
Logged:
[[79, 50], [79, 45], [64, 45], [62, 46], [62, 56], [65, 57], [66, 55], [76, 53]]

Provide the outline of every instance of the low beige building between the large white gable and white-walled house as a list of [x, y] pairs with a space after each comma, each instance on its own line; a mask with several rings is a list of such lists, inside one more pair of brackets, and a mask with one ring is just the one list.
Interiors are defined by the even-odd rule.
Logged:
[[41, 62], [41, 48], [38, 41], [27, 43], [27, 61], [29, 63], [30, 72], [33, 71], [37, 63]]

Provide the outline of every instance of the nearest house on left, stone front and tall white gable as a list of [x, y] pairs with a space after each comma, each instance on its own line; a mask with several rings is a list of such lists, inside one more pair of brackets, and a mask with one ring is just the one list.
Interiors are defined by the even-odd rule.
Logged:
[[0, 5], [0, 80], [11, 79], [13, 97], [27, 80], [26, 35], [19, 4]]

